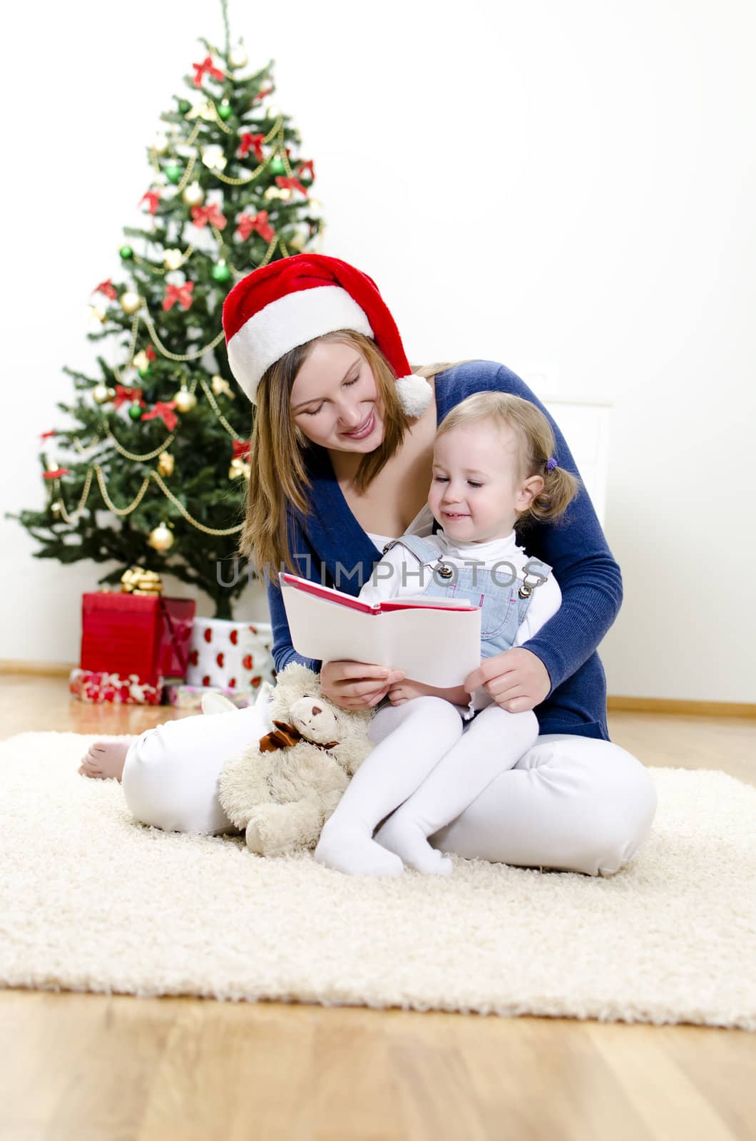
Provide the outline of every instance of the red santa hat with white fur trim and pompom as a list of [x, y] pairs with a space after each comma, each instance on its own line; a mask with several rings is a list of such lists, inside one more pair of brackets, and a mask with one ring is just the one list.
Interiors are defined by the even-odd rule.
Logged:
[[419, 416], [431, 403], [424, 377], [412, 375], [386, 302], [367, 274], [338, 258], [297, 253], [242, 277], [223, 306], [228, 364], [255, 403], [266, 369], [323, 333], [353, 329], [372, 338], [396, 373], [400, 404]]

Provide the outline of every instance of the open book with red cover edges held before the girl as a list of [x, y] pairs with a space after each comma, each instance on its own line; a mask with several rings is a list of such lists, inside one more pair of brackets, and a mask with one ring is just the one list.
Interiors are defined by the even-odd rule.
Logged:
[[332, 586], [280, 572], [297, 654], [321, 662], [369, 662], [426, 686], [461, 686], [481, 664], [481, 612], [447, 598], [363, 602]]

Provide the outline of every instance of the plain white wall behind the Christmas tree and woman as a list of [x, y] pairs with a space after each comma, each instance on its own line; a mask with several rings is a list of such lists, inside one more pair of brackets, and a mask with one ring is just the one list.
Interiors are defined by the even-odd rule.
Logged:
[[[626, 596], [602, 646], [610, 693], [756, 701], [749, 0], [230, 7], [252, 62], [276, 59], [315, 160], [323, 252], [376, 278], [410, 359], [493, 358], [542, 370], [541, 396], [613, 403], [606, 533]], [[38, 24], [15, 11], [6, 37], [14, 510], [42, 502], [37, 437], [70, 395], [61, 366], [91, 358], [89, 292], [138, 217], [159, 113], [195, 37], [222, 37], [219, 5], [199, 0], [106, 21], [72, 0]], [[75, 661], [80, 593], [103, 570], [32, 560], [26, 533], [0, 528], [0, 656]]]

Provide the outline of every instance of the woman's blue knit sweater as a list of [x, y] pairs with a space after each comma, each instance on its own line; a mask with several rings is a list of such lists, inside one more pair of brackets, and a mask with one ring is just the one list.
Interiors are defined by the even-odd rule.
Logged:
[[[579, 475], [552, 416], [528, 386], [504, 365], [468, 361], [439, 373], [437, 422], [465, 397], [486, 390], [513, 393], [536, 404], [554, 429], [560, 467]], [[312, 480], [309, 511], [304, 516], [290, 508], [288, 521], [298, 574], [356, 596], [381, 552], [352, 513], [324, 448], [315, 445], [309, 448], [307, 471]], [[587, 493], [581, 488], [560, 519], [523, 529], [518, 541], [529, 555], [554, 568], [562, 590], [558, 612], [524, 644], [524, 649], [544, 663], [552, 682], [547, 697], [534, 709], [540, 733], [571, 733], [609, 741], [606, 679], [596, 647], [619, 610], [622, 578]], [[268, 580], [267, 596], [276, 671], [289, 662], [303, 662], [320, 670], [321, 662], [301, 657], [291, 645], [278, 583]]]

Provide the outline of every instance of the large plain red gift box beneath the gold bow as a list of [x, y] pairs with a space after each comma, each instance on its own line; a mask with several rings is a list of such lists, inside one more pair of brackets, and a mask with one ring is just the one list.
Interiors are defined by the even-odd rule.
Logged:
[[88, 592], [81, 599], [81, 669], [156, 686], [186, 677], [194, 599], [126, 591]]

